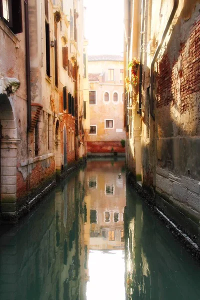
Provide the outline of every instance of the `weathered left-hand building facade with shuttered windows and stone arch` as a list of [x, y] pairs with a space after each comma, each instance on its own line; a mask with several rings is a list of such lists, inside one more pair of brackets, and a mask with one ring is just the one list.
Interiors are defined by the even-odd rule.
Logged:
[[15, 220], [86, 156], [83, 1], [1, 0], [0, 40], [0, 209]]

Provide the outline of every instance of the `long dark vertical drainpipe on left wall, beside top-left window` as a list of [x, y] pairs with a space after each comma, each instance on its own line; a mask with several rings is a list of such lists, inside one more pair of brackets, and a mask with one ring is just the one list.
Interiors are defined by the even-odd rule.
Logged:
[[31, 126], [30, 45], [29, 45], [28, 0], [24, 0], [24, 19], [25, 19], [25, 65], [26, 65], [26, 92], [27, 92], [27, 131], [28, 131]]

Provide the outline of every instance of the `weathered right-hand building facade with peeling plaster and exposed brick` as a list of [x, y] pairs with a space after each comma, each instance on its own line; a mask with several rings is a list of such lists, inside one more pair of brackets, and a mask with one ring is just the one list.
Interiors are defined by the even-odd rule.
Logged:
[[199, 243], [199, 1], [124, 8], [126, 163], [157, 209]]

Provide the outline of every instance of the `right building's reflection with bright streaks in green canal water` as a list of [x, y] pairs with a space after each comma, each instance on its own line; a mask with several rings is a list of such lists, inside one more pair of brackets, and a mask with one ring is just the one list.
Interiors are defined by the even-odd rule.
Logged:
[[200, 298], [198, 265], [128, 186], [124, 236], [127, 300]]

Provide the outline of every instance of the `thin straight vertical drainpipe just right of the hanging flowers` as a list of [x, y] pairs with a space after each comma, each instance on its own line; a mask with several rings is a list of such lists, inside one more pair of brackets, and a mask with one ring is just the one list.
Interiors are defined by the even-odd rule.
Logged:
[[143, 35], [144, 35], [144, 0], [141, 3], [141, 38], [140, 38], [140, 63], [139, 63], [139, 110], [137, 113], [141, 116], [141, 86], [142, 86], [142, 63], [143, 63]]

